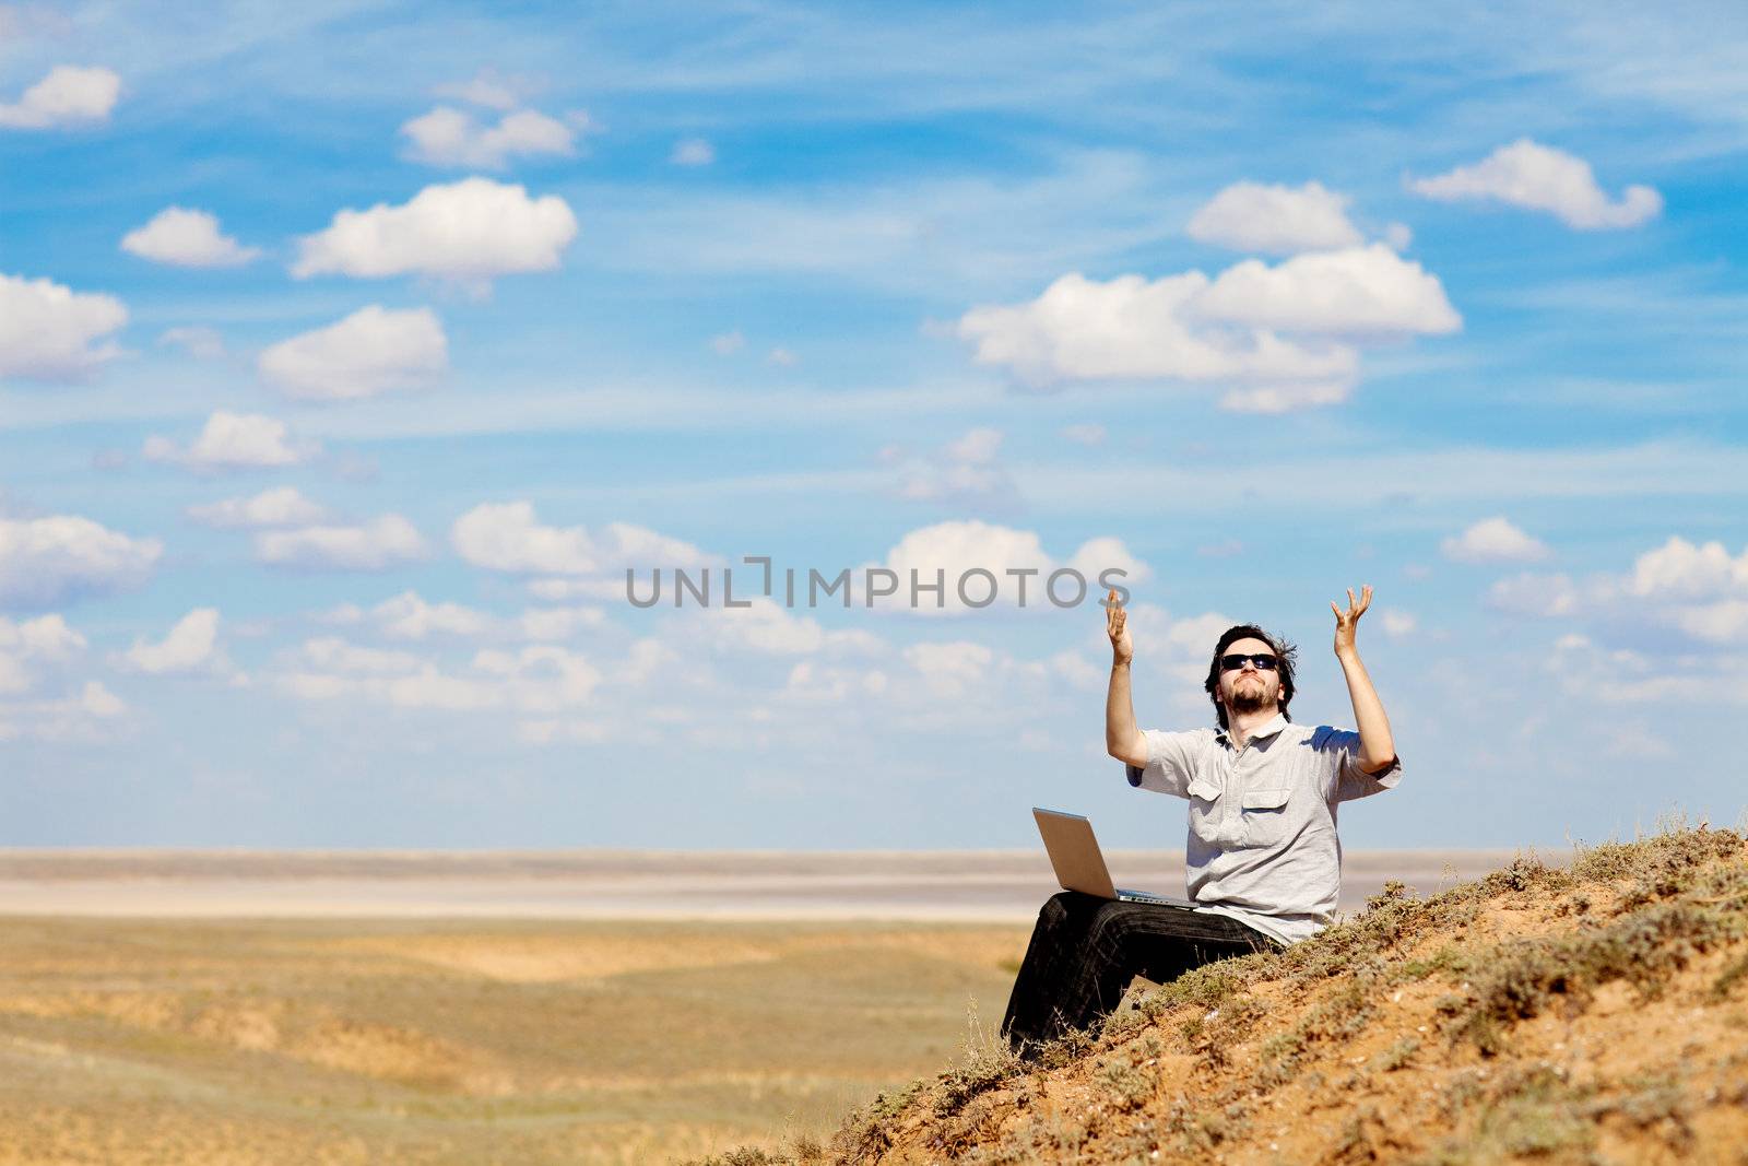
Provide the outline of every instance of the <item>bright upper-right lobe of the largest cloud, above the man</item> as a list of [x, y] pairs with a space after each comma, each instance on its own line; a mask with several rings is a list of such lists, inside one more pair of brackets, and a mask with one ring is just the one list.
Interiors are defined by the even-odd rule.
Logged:
[[1327, 336], [1442, 336], [1463, 327], [1439, 278], [1383, 243], [1227, 267], [1190, 308], [1201, 320]]

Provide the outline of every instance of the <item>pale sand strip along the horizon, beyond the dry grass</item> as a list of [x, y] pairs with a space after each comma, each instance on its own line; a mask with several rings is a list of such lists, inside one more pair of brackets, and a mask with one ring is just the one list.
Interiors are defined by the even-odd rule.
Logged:
[[[1341, 911], [1433, 893], [1507, 850], [1348, 851]], [[1557, 864], [1566, 853], [1540, 855]], [[1183, 851], [1110, 851], [1120, 886], [1183, 893]], [[1056, 892], [1024, 851], [0, 850], [0, 914], [1024, 921]]]

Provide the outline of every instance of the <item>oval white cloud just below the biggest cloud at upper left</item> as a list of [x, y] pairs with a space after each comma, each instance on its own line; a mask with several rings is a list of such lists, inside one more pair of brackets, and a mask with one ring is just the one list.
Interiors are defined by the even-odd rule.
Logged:
[[357, 400], [430, 383], [449, 365], [442, 325], [428, 308], [360, 308], [344, 320], [273, 344], [260, 374], [299, 400]]

